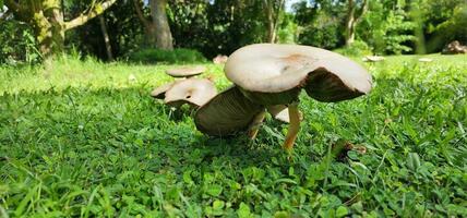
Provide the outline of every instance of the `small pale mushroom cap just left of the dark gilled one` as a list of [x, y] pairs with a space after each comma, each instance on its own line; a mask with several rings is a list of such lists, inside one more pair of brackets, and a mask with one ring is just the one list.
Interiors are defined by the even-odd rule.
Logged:
[[166, 93], [164, 101], [170, 106], [185, 102], [201, 106], [217, 94], [213, 82], [206, 78], [188, 78], [177, 82]]

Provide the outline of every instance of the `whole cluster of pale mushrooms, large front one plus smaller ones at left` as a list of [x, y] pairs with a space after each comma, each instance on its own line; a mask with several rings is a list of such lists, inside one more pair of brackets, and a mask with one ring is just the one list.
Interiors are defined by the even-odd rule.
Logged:
[[[266, 112], [289, 123], [283, 147], [290, 152], [303, 119], [298, 109], [302, 89], [319, 101], [336, 102], [368, 94], [371, 75], [338, 53], [298, 45], [256, 44], [227, 60], [225, 74], [234, 85], [216, 95], [208, 80], [187, 78], [153, 90], [169, 105], [197, 106], [196, 129], [213, 136], [258, 134]], [[190, 71], [194, 72], [194, 71]], [[172, 73], [180, 75], [180, 71]]]

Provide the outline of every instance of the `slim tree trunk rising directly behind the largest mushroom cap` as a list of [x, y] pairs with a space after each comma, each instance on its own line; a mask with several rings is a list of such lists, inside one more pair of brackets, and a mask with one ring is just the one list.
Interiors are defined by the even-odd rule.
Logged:
[[280, 14], [284, 11], [285, 0], [263, 0], [263, 8], [266, 15], [267, 43], [274, 44], [277, 37], [277, 26]]

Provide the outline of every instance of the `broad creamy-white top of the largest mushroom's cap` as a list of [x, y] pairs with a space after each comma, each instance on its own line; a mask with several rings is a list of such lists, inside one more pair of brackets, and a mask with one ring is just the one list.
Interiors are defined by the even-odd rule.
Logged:
[[256, 44], [235, 51], [225, 66], [226, 76], [243, 90], [283, 93], [303, 87], [314, 71], [339, 80], [345, 90], [367, 94], [371, 75], [352, 60], [321, 48]]

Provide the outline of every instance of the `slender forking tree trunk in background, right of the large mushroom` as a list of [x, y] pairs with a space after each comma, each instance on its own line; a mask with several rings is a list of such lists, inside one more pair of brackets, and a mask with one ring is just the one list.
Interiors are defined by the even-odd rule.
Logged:
[[[358, 5], [360, 4], [360, 7]], [[350, 46], [355, 41], [355, 26], [360, 21], [360, 17], [368, 10], [368, 0], [356, 2], [356, 0], [348, 0], [348, 11], [346, 20], [346, 46]]]

